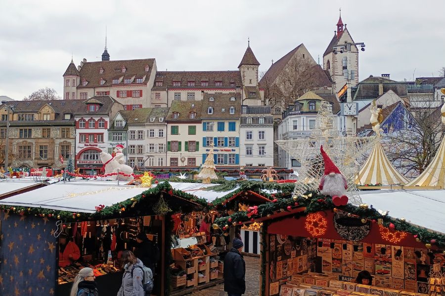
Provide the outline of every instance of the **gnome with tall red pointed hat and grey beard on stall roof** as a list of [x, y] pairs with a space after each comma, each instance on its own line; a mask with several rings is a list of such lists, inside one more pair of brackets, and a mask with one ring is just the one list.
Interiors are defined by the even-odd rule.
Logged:
[[348, 196], [345, 195], [348, 189], [346, 179], [323, 150], [323, 146], [320, 147], [320, 152], [324, 161], [324, 176], [321, 177], [318, 189], [321, 194], [331, 196], [335, 206], [344, 206], [348, 203]]

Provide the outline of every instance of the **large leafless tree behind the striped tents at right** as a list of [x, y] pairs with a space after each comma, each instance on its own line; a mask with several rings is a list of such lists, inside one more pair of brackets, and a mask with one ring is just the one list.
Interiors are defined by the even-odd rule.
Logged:
[[417, 102], [416, 107], [407, 108], [412, 117], [398, 114], [397, 121], [383, 126], [388, 131], [383, 148], [389, 160], [407, 177], [421, 174], [437, 153], [445, 135], [440, 108], [434, 101]]

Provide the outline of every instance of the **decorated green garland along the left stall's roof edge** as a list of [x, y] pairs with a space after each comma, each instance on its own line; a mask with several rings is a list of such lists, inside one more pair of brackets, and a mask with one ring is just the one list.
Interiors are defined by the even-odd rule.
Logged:
[[[204, 198], [196, 197], [195, 195], [185, 193], [180, 190], [173, 189], [173, 187], [168, 182], [159, 183], [156, 187], [150, 188], [138, 194], [132, 198], [121, 201], [119, 203], [113, 204], [111, 206], [101, 206], [98, 205], [96, 207], [96, 212], [89, 213], [78, 213], [78, 212], [68, 212], [68, 211], [56, 211], [52, 209], [45, 209], [42, 207], [21, 207], [21, 206], [9, 206], [9, 205], [0, 205], [0, 209], [6, 213], [16, 213], [18, 215], [26, 215], [26, 216], [39, 216], [39, 217], [47, 217], [57, 220], [63, 220], [66, 222], [78, 222], [78, 221], [87, 221], [87, 220], [104, 220], [111, 219], [113, 217], [130, 217], [134, 209], [137, 209], [135, 205], [139, 202], [143, 202], [149, 198], [155, 196], [158, 199], [161, 193], [177, 196], [182, 199], [195, 202], [200, 206], [208, 206], [207, 200]], [[145, 199], [147, 198], [147, 199]], [[171, 202], [169, 206], [173, 211], [179, 210], [178, 203]], [[151, 209], [152, 210], [152, 209]], [[149, 213], [145, 213], [149, 214]], [[154, 213], [156, 214], [156, 213]]]

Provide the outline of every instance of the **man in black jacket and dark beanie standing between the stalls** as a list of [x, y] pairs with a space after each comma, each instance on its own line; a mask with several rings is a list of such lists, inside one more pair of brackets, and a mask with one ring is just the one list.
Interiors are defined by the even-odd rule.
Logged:
[[224, 258], [224, 291], [228, 296], [241, 296], [246, 292], [246, 262], [241, 255], [243, 242], [233, 239], [232, 248]]

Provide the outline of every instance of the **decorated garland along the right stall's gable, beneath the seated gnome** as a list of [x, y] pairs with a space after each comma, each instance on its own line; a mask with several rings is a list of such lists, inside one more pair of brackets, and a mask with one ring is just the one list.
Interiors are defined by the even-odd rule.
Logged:
[[[346, 206], [336, 207], [332, 203], [331, 198], [326, 198], [320, 195], [318, 191], [309, 191], [301, 196], [293, 196], [292, 198], [279, 198], [274, 199], [272, 202], [259, 205], [252, 210], [239, 211], [228, 217], [219, 218], [215, 223], [223, 229], [228, 231], [230, 226], [241, 225], [243, 223], [255, 222], [255, 219], [261, 217], [270, 217], [273, 214], [292, 211], [298, 207], [305, 207], [305, 214], [315, 213], [324, 210], [333, 210], [347, 212], [348, 215], [359, 219], [366, 219], [373, 223], [379, 223], [389, 228], [391, 231], [404, 231], [414, 235], [418, 242], [425, 243], [426, 248], [430, 248], [431, 245], [445, 248], [445, 235], [442, 233], [434, 232], [424, 227], [420, 227], [409, 222], [405, 219], [395, 219], [388, 215], [381, 215], [376, 209], [368, 205], [360, 205], [358, 207], [347, 204]], [[280, 219], [288, 218], [288, 216], [281, 217]], [[277, 221], [274, 219], [274, 221]]]

